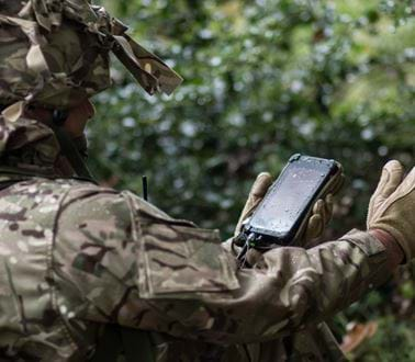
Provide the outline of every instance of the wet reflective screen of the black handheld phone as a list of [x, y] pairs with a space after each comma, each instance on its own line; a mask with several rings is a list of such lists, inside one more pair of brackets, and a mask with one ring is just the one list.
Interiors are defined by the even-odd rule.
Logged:
[[307, 158], [289, 163], [254, 213], [250, 230], [280, 238], [292, 236], [329, 180], [335, 166], [324, 161]]

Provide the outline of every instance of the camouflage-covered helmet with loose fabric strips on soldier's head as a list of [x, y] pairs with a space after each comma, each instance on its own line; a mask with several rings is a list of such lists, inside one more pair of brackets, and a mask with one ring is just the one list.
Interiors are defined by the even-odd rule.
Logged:
[[110, 52], [150, 94], [181, 78], [88, 0], [0, 0], [0, 104], [69, 109], [111, 84]]

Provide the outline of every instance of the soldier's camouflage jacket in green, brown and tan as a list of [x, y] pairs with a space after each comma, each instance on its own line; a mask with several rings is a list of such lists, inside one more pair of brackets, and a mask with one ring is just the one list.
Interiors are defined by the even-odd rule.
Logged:
[[86, 361], [106, 324], [148, 331], [157, 362], [341, 361], [323, 321], [389, 278], [356, 230], [238, 270], [217, 230], [53, 176], [47, 127], [0, 131], [1, 361]]

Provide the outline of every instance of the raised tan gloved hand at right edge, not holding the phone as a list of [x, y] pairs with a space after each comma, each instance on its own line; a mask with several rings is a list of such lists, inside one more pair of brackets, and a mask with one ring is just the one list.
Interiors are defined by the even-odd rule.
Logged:
[[[402, 247], [406, 262], [415, 258], [415, 168], [403, 180], [399, 161], [389, 161], [369, 203], [368, 229], [389, 233]], [[403, 180], [403, 181], [402, 181]]]

